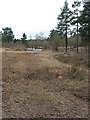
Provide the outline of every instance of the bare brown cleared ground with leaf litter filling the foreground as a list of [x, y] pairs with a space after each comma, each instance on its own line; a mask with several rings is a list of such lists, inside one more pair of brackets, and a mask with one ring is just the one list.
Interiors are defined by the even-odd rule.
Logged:
[[62, 54], [3, 50], [2, 55], [3, 118], [88, 117], [88, 81], [72, 77], [73, 64], [61, 62]]

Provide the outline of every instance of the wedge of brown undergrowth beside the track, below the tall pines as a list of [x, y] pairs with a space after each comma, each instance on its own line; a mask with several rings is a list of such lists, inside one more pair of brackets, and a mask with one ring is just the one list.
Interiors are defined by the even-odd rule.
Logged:
[[88, 55], [85, 50], [79, 53], [76, 53], [75, 51], [60, 53], [55, 57], [57, 60], [71, 64], [72, 66], [88, 68]]

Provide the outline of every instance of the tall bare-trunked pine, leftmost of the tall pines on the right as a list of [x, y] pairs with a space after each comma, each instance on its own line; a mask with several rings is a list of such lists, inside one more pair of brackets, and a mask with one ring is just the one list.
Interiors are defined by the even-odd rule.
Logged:
[[68, 3], [67, 0], [64, 3], [63, 9], [61, 8], [61, 13], [58, 16], [58, 33], [60, 34], [61, 37], [65, 36], [66, 37], [66, 52], [67, 52], [67, 40], [68, 40], [68, 35], [70, 34], [70, 22], [71, 22], [71, 16], [72, 12], [68, 8]]

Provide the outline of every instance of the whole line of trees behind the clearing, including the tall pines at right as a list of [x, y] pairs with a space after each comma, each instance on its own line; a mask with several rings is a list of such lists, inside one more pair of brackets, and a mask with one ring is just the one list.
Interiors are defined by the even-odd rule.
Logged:
[[[40, 34], [36, 34], [35, 40], [32, 41], [31, 37], [31, 47], [35, 46], [44, 46], [44, 48], [50, 47], [58, 51], [60, 46], [66, 46], [66, 52], [69, 45], [68, 38], [69, 36], [76, 36], [76, 47], [78, 52], [78, 45], [79, 45], [79, 38], [81, 37], [82, 44], [87, 46], [89, 42], [89, 35], [90, 35], [90, 1], [84, 3], [83, 10], [80, 11], [79, 7], [81, 5], [81, 1], [74, 0], [72, 4], [73, 10], [71, 11], [68, 7], [68, 2], [65, 0], [63, 8], [60, 8], [60, 14], [58, 15], [58, 24], [57, 27], [50, 31], [49, 37], [46, 39], [41, 32]], [[13, 31], [11, 28], [6, 27], [2, 28], [2, 42], [3, 43], [16, 43], [18, 40], [15, 38]], [[80, 37], [79, 37], [80, 36]], [[40, 40], [44, 40], [44, 42], [40, 42]], [[27, 35], [23, 33], [21, 38], [22, 44], [25, 47], [29, 47], [27, 40]], [[73, 39], [72, 39], [73, 41]], [[36, 44], [36, 43], [37, 44]], [[40, 44], [40, 45], [39, 45]]]

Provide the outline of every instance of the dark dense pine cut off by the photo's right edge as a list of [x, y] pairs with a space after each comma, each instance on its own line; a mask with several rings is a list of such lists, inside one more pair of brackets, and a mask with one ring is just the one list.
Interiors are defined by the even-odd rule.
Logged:
[[87, 46], [90, 38], [90, 1], [85, 2], [83, 7], [84, 10], [81, 12], [81, 16], [79, 17], [81, 25], [79, 31], [83, 44], [86, 44]]

